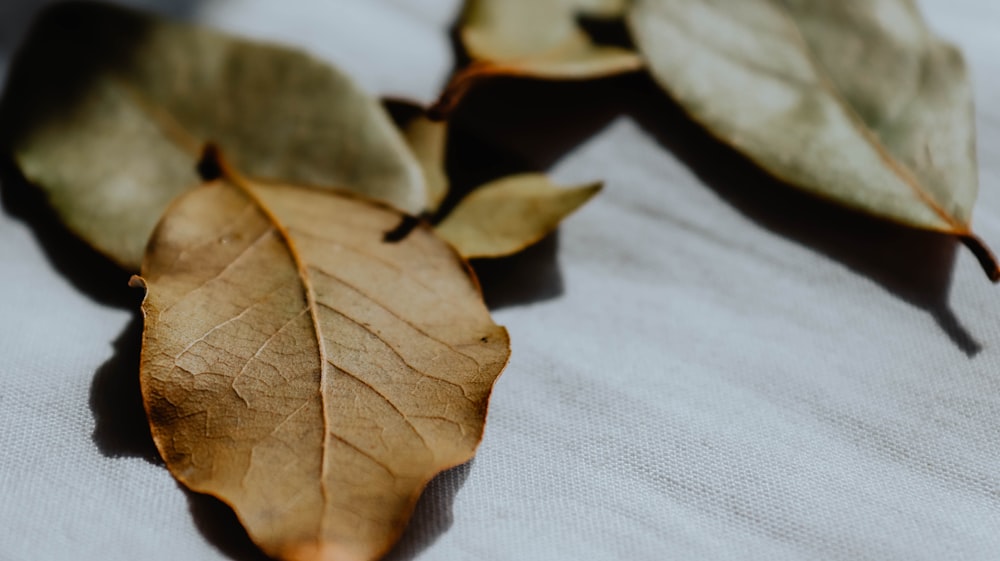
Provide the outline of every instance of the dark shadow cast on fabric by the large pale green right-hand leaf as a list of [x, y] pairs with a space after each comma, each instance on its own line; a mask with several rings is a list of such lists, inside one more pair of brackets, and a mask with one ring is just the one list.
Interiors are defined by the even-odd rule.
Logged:
[[630, 77], [621, 86], [618, 103], [624, 114], [741, 214], [924, 310], [969, 358], [982, 350], [948, 300], [959, 246], [956, 238], [880, 220], [808, 195], [716, 140], [647, 75]]

